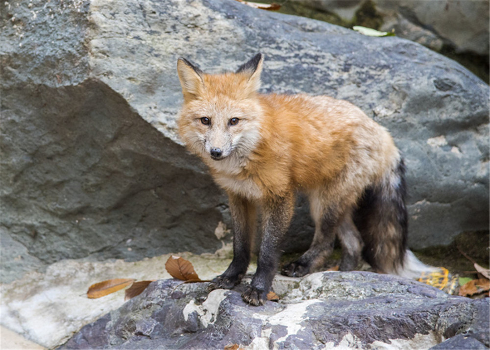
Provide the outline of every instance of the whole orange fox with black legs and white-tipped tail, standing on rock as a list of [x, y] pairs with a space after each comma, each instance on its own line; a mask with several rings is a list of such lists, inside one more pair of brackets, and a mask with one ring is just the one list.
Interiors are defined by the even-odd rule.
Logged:
[[389, 132], [344, 100], [259, 94], [262, 65], [261, 53], [217, 75], [177, 62], [180, 137], [227, 192], [233, 219], [233, 260], [208, 289], [231, 289], [245, 275], [260, 208], [257, 270], [242, 297], [265, 302], [298, 191], [308, 196], [315, 235], [283, 274], [321, 269], [337, 236], [342, 271], [362, 255], [377, 272], [418, 275], [427, 266], [407, 250], [405, 166]]

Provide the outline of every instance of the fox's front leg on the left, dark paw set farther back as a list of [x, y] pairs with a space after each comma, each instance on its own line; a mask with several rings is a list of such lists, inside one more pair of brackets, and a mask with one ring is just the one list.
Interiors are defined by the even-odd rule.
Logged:
[[250, 242], [256, 227], [255, 205], [243, 197], [228, 194], [233, 219], [233, 260], [226, 271], [209, 283], [208, 290], [231, 289], [242, 280], [250, 262]]

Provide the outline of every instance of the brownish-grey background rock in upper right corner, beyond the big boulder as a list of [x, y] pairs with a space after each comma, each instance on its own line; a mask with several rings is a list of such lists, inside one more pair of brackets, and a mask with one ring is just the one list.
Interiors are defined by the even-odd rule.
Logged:
[[397, 36], [436, 51], [448, 45], [457, 52], [489, 55], [490, 6], [486, 0], [293, 1], [333, 13], [346, 23], [355, 23], [356, 17], [368, 17], [372, 27], [387, 31], [395, 29]]

